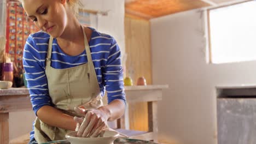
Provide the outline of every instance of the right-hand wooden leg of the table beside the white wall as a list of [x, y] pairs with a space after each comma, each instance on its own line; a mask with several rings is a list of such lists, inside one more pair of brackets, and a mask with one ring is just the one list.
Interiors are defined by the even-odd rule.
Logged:
[[148, 102], [148, 129], [153, 131], [154, 142], [158, 142], [158, 101]]

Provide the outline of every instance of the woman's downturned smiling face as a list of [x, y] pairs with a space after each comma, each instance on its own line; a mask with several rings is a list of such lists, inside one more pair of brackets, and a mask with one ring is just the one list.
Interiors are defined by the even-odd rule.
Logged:
[[22, 0], [27, 16], [34, 24], [57, 38], [67, 25], [65, 0]]

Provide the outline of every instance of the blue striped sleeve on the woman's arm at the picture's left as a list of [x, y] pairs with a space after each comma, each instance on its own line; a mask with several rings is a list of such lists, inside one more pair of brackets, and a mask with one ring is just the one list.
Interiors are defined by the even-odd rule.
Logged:
[[33, 38], [28, 37], [23, 53], [23, 65], [25, 69], [25, 77], [27, 80], [27, 88], [30, 92], [30, 99], [34, 113], [44, 105], [52, 105], [48, 92], [48, 84], [45, 70], [40, 61], [40, 51]]

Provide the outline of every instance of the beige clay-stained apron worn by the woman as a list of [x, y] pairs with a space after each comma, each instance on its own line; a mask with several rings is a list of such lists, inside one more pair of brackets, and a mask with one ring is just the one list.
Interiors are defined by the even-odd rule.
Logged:
[[[50, 65], [53, 37], [50, 37], [45, 65], [49, 95], [55, 108], [71, 116], [77, 116], [74, 112], [75, 106], [97, 109], [103, 105], [90, 47], [83, 26], [82, 29], [88, 63], [66, 69], [52, 68]], [[64, 140], [68, 132], [69, 130], [51, 127], [36, 118], [34, 138], [38, 143]]]

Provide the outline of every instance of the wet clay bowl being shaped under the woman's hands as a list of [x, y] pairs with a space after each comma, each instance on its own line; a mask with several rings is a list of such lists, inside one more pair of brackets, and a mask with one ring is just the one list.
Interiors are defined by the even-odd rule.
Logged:
[[103, 137], [76, 137], [77, 131], [66, 134], [66, 138], [71, 144], [113, 144], [119, 133], [117, 131], [105, 131]]

